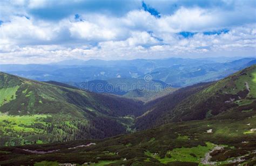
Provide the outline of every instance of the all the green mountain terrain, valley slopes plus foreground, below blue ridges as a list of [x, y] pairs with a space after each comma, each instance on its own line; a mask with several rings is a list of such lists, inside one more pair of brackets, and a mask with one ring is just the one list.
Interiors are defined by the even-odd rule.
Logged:
[[256, 65], [149, 102], [0, 76], [1, 165], [256, 164]]

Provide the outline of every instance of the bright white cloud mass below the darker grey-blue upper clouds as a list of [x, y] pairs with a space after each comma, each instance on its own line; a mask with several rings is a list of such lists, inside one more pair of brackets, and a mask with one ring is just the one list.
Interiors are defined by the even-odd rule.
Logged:
[[[43, 3], [43, 4], [41, 4]], [[14, 6], [41, 8], [45, 1], [17, 1]], [[237, 8], [237, 7], [235, 7]], [[0, 8], [2, 9], [2, 8]], [[4, 12], [13, 10], [4, 10]], [[251, 12], [251, 8], [245, 13]], [[4, 13], [6, 15], [6, 13]], [[134, 59], [168, 56], [255, 55], [255, 23], [241, 25], [237, 9], [181, 7], [172, 15], [156, 18], [144, 10], [122, 17], [84, 13], [57, 21], [41, 20], [26, 11], [5, 17], [0, 32], [0, 63], [41, 63], [62, 59]], [[1, 18], [1, 16], [0, 16]], [[246, 20], [246, 19], [245, 19]], [[235, 22], [235, 24], [232, 24]], [[228, 28], [228, 33], [204, 35], [204, 31]], [[198, 32], [190, 38], [181, 31]], [[238, 55], [237, 55], [238, 56]]]

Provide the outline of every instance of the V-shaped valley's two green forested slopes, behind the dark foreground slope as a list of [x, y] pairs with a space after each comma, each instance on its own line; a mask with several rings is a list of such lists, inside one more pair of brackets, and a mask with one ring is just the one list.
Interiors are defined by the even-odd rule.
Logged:
[[1, 145], [98, 139], [177, 121], [243, 119], [255, 109], [255, 66], [167, 96], [134, 91], [126, 96], [153, 99], [146, 104], [62, 83], [0, 76]]

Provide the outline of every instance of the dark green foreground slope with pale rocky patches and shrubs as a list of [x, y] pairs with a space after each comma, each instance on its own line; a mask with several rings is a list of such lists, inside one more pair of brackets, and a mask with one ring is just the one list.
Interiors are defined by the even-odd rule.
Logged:
[[[250, 124], [250, 125], [248, 125]], [[244, 120], [175, 122], [104, 140], [1, 147], [1, 165], [256, 164], [255, 116]]]

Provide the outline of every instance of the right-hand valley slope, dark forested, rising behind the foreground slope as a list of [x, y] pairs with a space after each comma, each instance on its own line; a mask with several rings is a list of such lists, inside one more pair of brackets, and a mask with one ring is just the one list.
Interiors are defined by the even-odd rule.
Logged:
[[253, 116], [255, 108], [256, 65], [216, 83], [188, 86], [154, 101], [135, 126], [146, 129], [176, 121], [244, 119]]

